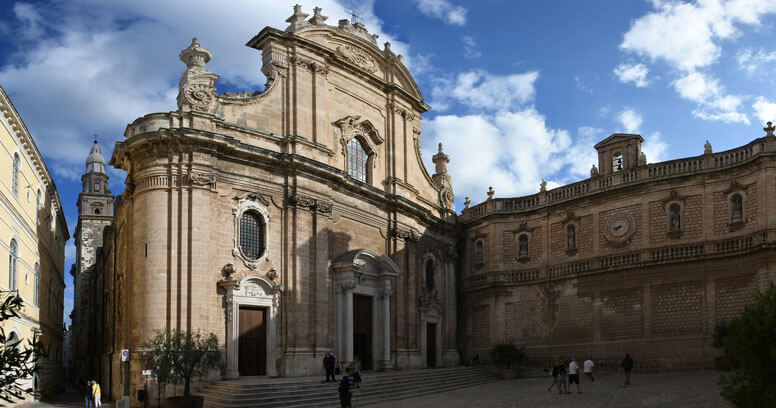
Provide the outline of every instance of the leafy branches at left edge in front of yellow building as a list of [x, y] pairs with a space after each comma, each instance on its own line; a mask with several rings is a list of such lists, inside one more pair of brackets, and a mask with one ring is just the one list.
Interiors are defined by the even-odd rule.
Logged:
[[[12, 317], [19, 317], [24, 306], [20, 296], [8, 296], [0, 302], [0, 323]], [[22, 389], [19, 380], [29, 378], [37, 370], [37, 362], [43, 355], [43, 346], [33, 337], [27, 347], [22, 348], [21, 340], [14, 341], [0, 327], [0, 392], [19, 395], [32, 393], [32, 389]]]

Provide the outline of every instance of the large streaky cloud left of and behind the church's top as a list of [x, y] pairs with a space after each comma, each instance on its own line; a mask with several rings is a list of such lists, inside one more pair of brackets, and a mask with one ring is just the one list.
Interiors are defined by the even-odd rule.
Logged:
[[[205, 1], [76, 0], [45, 7], [17, 3], [14, 32], [28, 34], [0, 66], [0, 83], [14, 100], [48, 165], [73, 179], [83, 165], [92, 134], [106, 158], [124, 127], [136, 117], [176, 109], [177, 82], [185, 66], [178, 53], [198, 37], [213, 53], [208, 69], [217, 83], [261, 89], [259, 52], [244, 44], [264, 26], [286, 27], [296, 1], [235, 0], [230, 7]], [[382, 30], [370, 2], [359, 10], [380, 42], [397, 53], [408, 46]], [[315, 5], [336, 25], [347, 10], [337, 0]], [[312, 14], [312, 4], [303, 11]], [[229, 22], [223, 24], [219, 22]], [[423, 58], [408, 56], [407, 64]]]

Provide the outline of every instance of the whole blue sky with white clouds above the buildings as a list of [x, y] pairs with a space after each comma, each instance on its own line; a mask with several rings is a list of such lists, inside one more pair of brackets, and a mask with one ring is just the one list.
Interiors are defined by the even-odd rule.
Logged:
[[[0, 84], [52, 170], [68, 226], [93, 134], [106, 157], [126, 124], [175, 109], [191, 37], [213, 53], [220, 91], [261, 89], [264, 26], [295, 1], [9, 1], [0, 9]], [[423, 156], [443, 142], [456, 205], [585, 178], [593, 145], [644, 136], [649, 162], [762, 136], [776, 119], [776, 0], [392, 0], [299, 2], [327, 23], [355, 10], [392, 43], [432, 110]], [[428, 163], [429, 168], [433, 168]], [[109, 170], [114, 193], [124, 175]], [[74, 258], [72, 240], [67, 269]], [[67, 276], [65, 315], [72, 308]]]

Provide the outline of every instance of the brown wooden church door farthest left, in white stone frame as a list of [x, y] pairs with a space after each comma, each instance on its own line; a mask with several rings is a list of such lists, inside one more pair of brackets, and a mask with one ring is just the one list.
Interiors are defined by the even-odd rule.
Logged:
[[240, 307], [238, 370], [241, 376], [267, 374], [267, 309]]

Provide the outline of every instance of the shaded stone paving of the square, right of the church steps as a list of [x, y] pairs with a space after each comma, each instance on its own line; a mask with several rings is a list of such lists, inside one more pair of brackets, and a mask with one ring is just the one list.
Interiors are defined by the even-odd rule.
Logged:
[[595, 382], [583, 378], [582, 393], [547, 392], [552, 378], [505, 380], [462, 388], [443, 394], [372, 405], [374, 408], [471, 407], [732, 407], [720, 395], [719, 373], [714, 371], [634, 375], [631, 385], [623, 377], [607, 375]]

